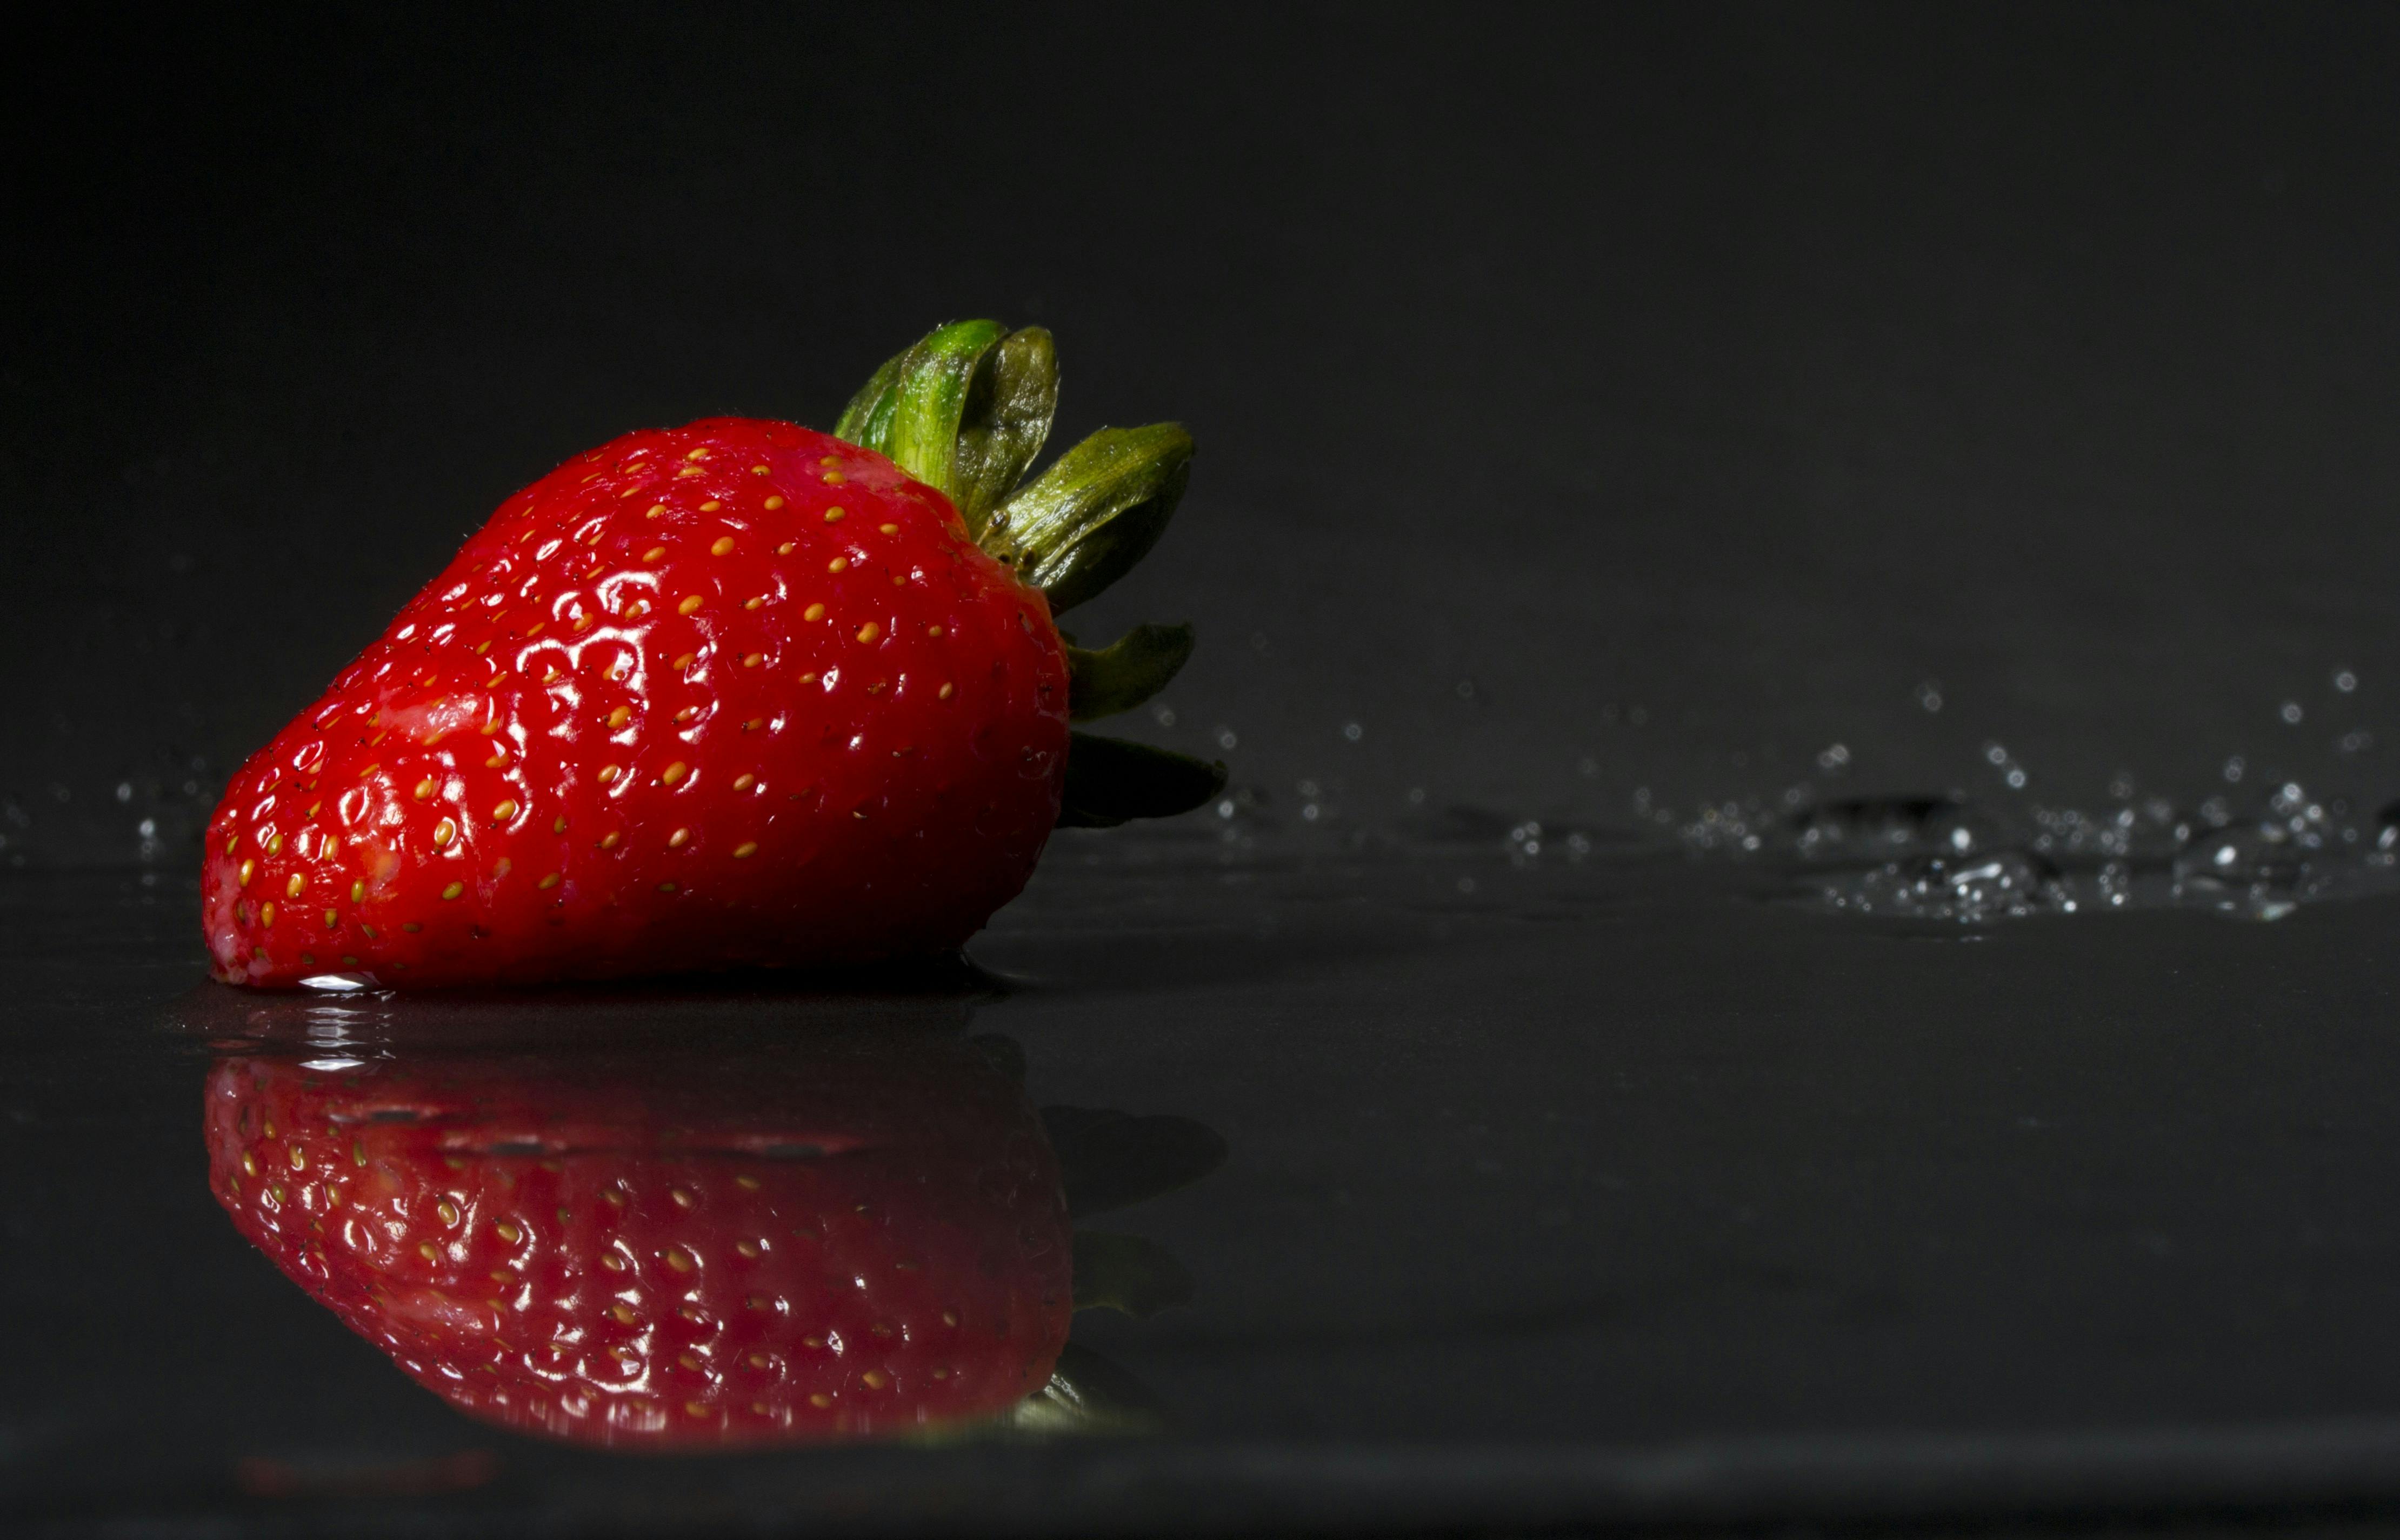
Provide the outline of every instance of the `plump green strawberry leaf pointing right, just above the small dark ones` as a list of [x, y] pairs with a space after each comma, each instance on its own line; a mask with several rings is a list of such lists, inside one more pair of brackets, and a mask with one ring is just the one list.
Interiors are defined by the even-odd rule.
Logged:
[[1181, 422], [1104, 427], [1001, 501], [979, 535], [1066, 614], [1140, 561], [1174, 518], [1190, 480]]

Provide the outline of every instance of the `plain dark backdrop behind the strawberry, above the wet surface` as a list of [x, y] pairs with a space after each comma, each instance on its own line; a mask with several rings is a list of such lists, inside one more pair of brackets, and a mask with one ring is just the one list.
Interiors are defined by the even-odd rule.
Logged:
[[[2381, 799], [2376, 7], [694, 7], [29, 34], [5, 859], [185, 864], [514, 487], [946, 317], [1181, 417], [1154, 736], [1270, 808]], [[2330, 679], [2350, 667], [2357, 693]], [[1942, 710], [1920, 705], [1934, 684]], [[2287, 724], [2282, 705], [2302, 708]], [[1344, 727], [1356, 722], [1358, 739]], [[139, 832], [151, 820], [151, 835]]]

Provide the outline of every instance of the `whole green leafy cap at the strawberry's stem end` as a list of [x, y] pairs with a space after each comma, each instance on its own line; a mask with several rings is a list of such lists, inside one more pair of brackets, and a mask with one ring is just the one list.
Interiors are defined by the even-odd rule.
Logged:
[[[833, 437], [871, 449], [953, 504], [974, 542], [1049, 600], [1099, 595], [1150, 554], [1190, 477], [1178, 422], [1104, 427], [1025, 480], [1058, 410], [1058, 348], [1039, 326], [946, 321], [850, 398]], [[1190, 626], [1135, 626], [1106, 648], [1066, 638], [1068, 710], [1090, 722], [1142, 705], [1193, 652]], [[1224, 792], [1224, 763], [1078, 732], [1061, 828], [1171, 818]]]

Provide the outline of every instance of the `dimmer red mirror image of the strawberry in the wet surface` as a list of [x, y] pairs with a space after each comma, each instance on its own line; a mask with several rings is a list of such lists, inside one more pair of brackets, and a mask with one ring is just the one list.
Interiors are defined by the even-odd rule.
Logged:
[[209, 1183], [461, 1410], [694, 1449], [1003, 1413], [1066, 1341], [1039, 1118], [960, 1043], [706, 1063], [228, 1058]]

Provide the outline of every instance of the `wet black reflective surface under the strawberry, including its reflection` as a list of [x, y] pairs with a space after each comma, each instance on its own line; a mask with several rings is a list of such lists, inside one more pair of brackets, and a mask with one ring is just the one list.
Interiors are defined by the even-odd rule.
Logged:
[[10, 1504], [2390, 1494], [2390, 900], [1927, 928], [1524, 844], [1061, 837], [972, 969], [413, 1000], [194, 986], [190, 895], [12, 878]]

